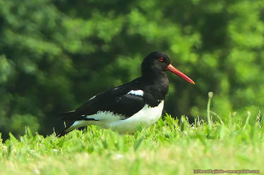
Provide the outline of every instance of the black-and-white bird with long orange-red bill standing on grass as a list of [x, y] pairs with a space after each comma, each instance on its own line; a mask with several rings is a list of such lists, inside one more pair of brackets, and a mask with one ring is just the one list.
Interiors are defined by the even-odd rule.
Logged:
[[169, 91], [167, 71], [195, 84], [172, 65], [166, 53], [154, 51], [143, 59], [141, 77], [93, 96], [76, 110], [61, 113], [64, 122], [73, 124], [56, 136], [88, 125], [114, 129], [120, 134], [133, 134], [139, 124], [150, 127], [162, 115]]

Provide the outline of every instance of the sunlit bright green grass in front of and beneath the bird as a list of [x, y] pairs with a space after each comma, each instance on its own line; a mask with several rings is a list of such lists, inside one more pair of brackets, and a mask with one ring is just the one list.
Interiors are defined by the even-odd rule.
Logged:
[[56, 138], [26, 129], [0, 141], [0, 174], [193, 174], [193, 169], [255, 169], [264, 174], [264, 129], [260, 116], [248, 124], [203, 122], [166, 115], [133, 135], [88, 127]]

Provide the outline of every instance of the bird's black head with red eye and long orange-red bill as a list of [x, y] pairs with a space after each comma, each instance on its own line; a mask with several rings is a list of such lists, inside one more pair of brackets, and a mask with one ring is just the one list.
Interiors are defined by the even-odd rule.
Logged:
[[145, 57], [141, 65], [141, 71], [143, 74], [152, 74], [152, 72], [165, 72], [169, 70], [170, 72], [178, 75], [179, 77], [185, 79], [191, 84], [195, 84], [193, 80], [186, 76], [183, 72], [177, 70], [172, 64], [169, 56], [166, 53], [155, 51], [150, 53]]

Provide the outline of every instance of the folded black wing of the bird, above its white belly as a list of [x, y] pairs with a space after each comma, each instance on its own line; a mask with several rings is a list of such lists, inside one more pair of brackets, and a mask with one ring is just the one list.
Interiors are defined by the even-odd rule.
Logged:
[[[131, 117], [145, 105], [143, 96], [136, 96], [128, 93], [131, 90], [138, 90], [139, 87], [136, 86], [137, 84], [138, 79], [135, 79], [128, 84], [104, 91], [94, 98], [91, 98], [75, 111], [65, 112], [61, 115], [63, 119], [82, 120], [88, 119], [86, 118], [87, 115], [94, 115], [99, 111], [109, 111], [114, 114], [122, 115], [124, 119]], [[89, 119], [96, 120], [92, 118]]]

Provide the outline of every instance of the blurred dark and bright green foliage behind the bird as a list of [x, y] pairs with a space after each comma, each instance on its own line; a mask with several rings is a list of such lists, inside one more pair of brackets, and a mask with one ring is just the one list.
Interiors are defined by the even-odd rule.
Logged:
[[239, 122], [246, 108], [252, 122], [263, 48], [264, 1], [0, 0], [0, 132], [51, 134], [60, 112], [139, 77], [152, 51], [196, 82], [169, 74], [166, 112], [206, 117], [213, 91], [213, 112]]

